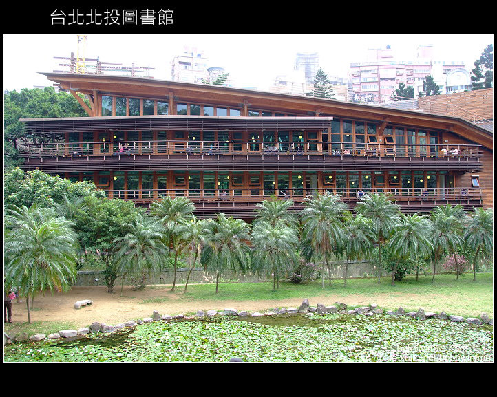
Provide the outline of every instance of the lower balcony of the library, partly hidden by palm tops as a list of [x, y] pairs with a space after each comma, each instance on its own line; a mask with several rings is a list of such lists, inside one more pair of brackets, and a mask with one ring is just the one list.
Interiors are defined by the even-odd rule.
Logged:
[[[306, 198], [313, 197], [317, 193], [331, 193], [341, 195], [344, 202], [352, 208], [361, 200], [357, 188], [332, 188], [332, 189], [265, 189], [263, 187], [251, 189], [147, 189], [147, 190], [107, 190], [108, 198], [120, 198], [121, 200], [132, 200], [137, 205], [149, 206], [154, 200], [160, 200], [161, 196], [189, 197], [195, 204], [198, 217], [211, 217], [215, 213], [224, 212], [227, 215], [240, 217], [253, 217], [255, 204], [263, 200], [271, 200], [278, 197], [281, 200], [293, 200], [293, 209], [299, 211], [304, 208]], [[467, 211], [473, 207], [482, 206], [481, 188], [389, 188], [389, 189], [366, 189], [364, 194], [385, 193], [388, 194], [396, 204], [401, 206], [404, 213], [428, 213], [434, 206], [461, 204]], [[424, 191], [424, 193], [423, 193]], [[240, 215], [244, 214], [244, 215]], [[235, 216], [233, 215], [233, 216]]]

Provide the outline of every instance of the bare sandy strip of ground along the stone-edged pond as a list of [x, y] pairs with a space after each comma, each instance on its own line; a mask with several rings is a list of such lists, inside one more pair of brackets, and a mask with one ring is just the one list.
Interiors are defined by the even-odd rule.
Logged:
[[[165, 287], [165, 286], [162, 286]], [[181, 288], [179, 289], [179, 291]], [[147, 299], [160, 298], [160, 302], [143, 303]], [[83, 299], [91, 299], [92, 305], [80, 309], [74, 309], [74, 303]], [[125, 288], [123, 297], [120, 296], [120, 288], [116, 293], [107, 293], [105, 286], [73, 287], [69, 292], [63, 294], [50, 294], [45, 297], [36, 297], [34, 308], [31, 312], [34, 321], [72, 321], [74, 328], [86, 327], [94, 321], [106, 324], [123, 323], [132, 319], [142, 319], [152, 315], [154, 310], [160, 314], [187, 314], [195, 313], [197, 310], [222, 310], [224, 308], [235, 308], [249, 312], [262, 311], [277, 307], [298, 308], [302, 298], [268, 300], [268, 301], [186, 301], [182, 299], [182, 292], [171, 293], [169, 288], [146, 288], [142, 291], [133, 291]], [[368, 305], [374, 301], [383, 307], [395, 307], [395, 297], [340, 297], [331, 295], [324, 297], [307, 297], [311, 305], [324, 303], [332, 305], [335, 301], [343, 301], [348, 305]], [[405, 301], [406, 296], [399, 297]], [[12, 302], [12, 320], [14, 323], [28, 321], [28, 313], [25, 302]]]

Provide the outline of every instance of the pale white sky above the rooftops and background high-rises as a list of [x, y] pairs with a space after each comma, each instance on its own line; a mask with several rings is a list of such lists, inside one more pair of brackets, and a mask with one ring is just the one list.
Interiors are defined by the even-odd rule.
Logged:
[[[84, 34], [84, 32], [82, 32]], [[88, 34], [86, 58], [131, 66], [154, 67], [150, 76], [171, 80], [171, 60], [196, 48], [208, 66], [223, 67], [235, 87], [267, 91], [278, 75], [290, 74], [297, 52], [319, 53], [319, 63], [328, 76], [346, 78], [350, 63], [366, 61], [370, 48], [396, 52], [396, 60], [414, 60], [419, 45], [433, 45], [434, 58], [466, 61], [467, 70], [480, 57], [493, 34]], [[3, 35], [3, 89], [47, 86], [53, 83], [38, 72], [63, 69], [54, 56], [76, 56], [76, 34]]]

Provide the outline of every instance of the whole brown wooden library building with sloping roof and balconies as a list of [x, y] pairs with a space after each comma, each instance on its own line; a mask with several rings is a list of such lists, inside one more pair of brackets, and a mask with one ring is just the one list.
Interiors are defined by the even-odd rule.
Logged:
[[326, 191], [352, 208], [360, 190], [388, 193], [405, 212], [492, 206], [493, 137], [461, 118], [148, 78], [47, 77], [88, 117], [22, 119], [43, 137], [20, 148], [23, 168], [90, 180], [108, 197], [149, 205], [184, 195], [198, 217], [244, 219], [273, 195], [299, 209]]

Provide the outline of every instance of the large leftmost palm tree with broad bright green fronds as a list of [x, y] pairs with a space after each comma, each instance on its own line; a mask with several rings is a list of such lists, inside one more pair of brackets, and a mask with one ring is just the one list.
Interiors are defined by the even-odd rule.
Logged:
[[68, 290], [76, 280], [78, 240], [64, 217], [52, 208], [14, 206], [6, 217], [5, 277], [26, 297], [31, 323], [30, 296], [49, 289]]

